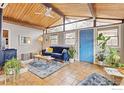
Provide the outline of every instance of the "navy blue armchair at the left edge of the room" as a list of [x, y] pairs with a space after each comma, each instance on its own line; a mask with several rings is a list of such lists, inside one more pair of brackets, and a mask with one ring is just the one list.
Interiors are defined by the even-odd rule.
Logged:
[[2, 67], [7, 60], [12, 58], [17, 58], [16, 49], [0, 50], [0, 67]]

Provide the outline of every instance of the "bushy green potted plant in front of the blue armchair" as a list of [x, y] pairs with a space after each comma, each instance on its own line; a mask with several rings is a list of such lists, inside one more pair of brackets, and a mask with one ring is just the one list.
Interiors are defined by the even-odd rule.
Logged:
[[4, 73], [6, 75], [8, 74], [15, 74], [17, 75], [20, 72], [20, 61], [12, 58], [11, 60], [8, 60], [4, 65]]

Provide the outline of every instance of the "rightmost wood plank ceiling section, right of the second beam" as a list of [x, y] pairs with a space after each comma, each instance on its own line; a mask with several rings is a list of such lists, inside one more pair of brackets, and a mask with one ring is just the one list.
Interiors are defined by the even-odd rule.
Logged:
[[124, 4], [94, 4], [97, 17], [124, 19]]

